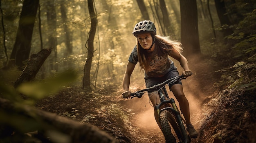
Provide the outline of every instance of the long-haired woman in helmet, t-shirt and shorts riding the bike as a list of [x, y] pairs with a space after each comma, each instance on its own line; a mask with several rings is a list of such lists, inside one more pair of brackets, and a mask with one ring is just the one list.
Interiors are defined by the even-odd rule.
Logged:
[[[181, 55], [183, 50], [181, 43], [170, 40], [169, 37], [156, 35], [156, 28], [153, 22], [144, 20], [137, 23], [132, 34], [137, 37], [137, 45], [133, 48], [132, 53], [130, 54], [124, 73], [123, 98], [130, 98], [130, 76], [137, 62], [139, 62], [140, 69], [145, 71], [144, 79], [147, 88], [160, 84], [172, 77], [179, 76], [177, 68], [174, 66], [173, 61], [169, 59], [168, 55], [180, 62], [180, 65], [184, 69], [182, 72], [184, 77], [192, 75], [186, 58]], [[180, 104], [180, 110], [186, 120], [186, 127], [189, 135], [191, 138], [196, 138], [198, 132], [193, 125], [191, 125], [189, 102], [184, 95], [181, 81], [177, 84], [169, 85], [169, 89], [173, 92], [173, 95]], [[151, 103], [156, 105], [157, 101], [159, 101], [157, 94], [155, 94], [155, 92], [148, 92], [148, 95]], [[159, 125], [158, 114], [156, 111], [155, 119]]]

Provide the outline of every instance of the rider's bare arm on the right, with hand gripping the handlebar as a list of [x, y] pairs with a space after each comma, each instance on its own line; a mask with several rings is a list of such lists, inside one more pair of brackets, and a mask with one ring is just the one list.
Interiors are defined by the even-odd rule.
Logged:
[[181, 55], [178, 51], [173, 50], [169, 56], [173, 57], [174, 59], [176, 59], [177, 61], [180, 62], [180, 66], [182, 66], [182, 68], [184, 69], [184, 72], [182, 73], [185, 77], [189, 77], [192, 75], [191, 70], [189, 69], [189, 64], [188, 61], [186, 60], [186, 58]]

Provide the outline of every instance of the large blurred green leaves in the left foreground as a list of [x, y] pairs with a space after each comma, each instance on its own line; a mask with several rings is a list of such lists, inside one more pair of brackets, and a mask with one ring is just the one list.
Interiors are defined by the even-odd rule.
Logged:
[[[44, 123], [27, 107], [34, 106], [36, 100], [53, 95], [61, 88], [65, 88], [66, 85], [69, 85], [75, 79], [76, 72], [67, 70], [43, 81], [23, 83], [18, 86], [17, 89], [14, 89], [12, 86], [0, 84], [0, 97], [2, 99], [8, 99], [11, 103], [9, 106], [13, 106], [12, 111], [6, 110], [3, 107], [0, 108], [0, 134], [7, 130], [7, 128], [3, 129], [2, 125], [13, 128], [13, 131], [16, 131], [16, 133], [12, 133], [15, 134], [14, 137], [17, 136], [17, 134], [22, 135], [25, 132], [36, 131], [42, 128], [47, 129], [49, 127], [47, 123]], [[22, 94], [22, 96], [20, 94]], [[28, 98], [22, 98], [24, 96]], [[23, 113], [24, 111], [27, 112], [29, 116], [25, 115]], [[76, 112], [76, 110], [74, 111]], [[2, 136], [2, 138], [4, 137]]]

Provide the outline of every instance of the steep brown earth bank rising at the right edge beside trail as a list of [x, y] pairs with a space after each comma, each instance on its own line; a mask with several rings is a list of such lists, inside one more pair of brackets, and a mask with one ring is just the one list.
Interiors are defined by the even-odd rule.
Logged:
[[217, 83], [221, 91], [204, 101], [205, 121], [197, 142], [255, 143], [256, 64], [239, 62], [222, 72], [223, 81]]

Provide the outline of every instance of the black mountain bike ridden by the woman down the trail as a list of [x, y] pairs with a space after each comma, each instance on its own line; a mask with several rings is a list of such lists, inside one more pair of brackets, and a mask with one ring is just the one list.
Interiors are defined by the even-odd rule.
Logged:
[[169, 98], [166, 85], [174, 84], [182, 79], [186, 79], [183, 75], [173, 77], [150, 88], [145, 88], [137, 92], [131, 93], [131, 99], [134, 97], [141, 98], [147, 91], [157, 91], [160, 103], [155, 105], [155, 110], [159, 115], [159, 123], [166, 143], [190, 143], [191, 138], [187, 133], [181, 112], [177, 108], [173, 98]]

